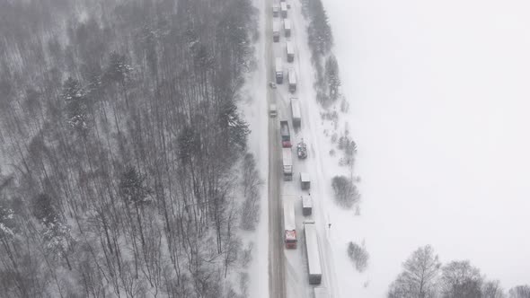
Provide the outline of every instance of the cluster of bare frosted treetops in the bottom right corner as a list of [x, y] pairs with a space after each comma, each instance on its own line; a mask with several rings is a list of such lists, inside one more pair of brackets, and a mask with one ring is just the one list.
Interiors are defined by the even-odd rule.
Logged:
[[415, 250], [402, 267], [388, 298], [530, 298], [530, 286], [517, 285], [507, 295], [499, 280], [488, 280], [469, 260], [442, 266], [429, 245]]

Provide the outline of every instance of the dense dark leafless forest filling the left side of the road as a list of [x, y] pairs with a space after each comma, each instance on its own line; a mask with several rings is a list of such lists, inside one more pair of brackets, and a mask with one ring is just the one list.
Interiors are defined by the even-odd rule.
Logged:
[[245, 292], [225, 277], [255, 16], [249, 0], [0, 2], [0, 296]]

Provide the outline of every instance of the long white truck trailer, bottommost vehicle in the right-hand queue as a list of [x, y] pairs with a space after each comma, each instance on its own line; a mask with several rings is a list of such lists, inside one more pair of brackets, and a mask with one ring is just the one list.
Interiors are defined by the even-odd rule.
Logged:
[[322, 267], [320, 263], [320, 250], [314, 222], [304, 223], [305, 252], [307, 255], [307, 272], [310, 285], [320, 285], [322, 282]]

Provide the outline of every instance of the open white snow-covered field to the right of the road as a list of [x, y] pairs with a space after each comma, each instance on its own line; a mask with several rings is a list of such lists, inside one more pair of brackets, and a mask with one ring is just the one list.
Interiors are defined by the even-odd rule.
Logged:
[[[362, 178], [360, 216], [327, 205], [340, 297], [383, 297], [425, 244], [530, 283], [530, 3], [323, 4]], [[366, 241], [362, 275], [350, 240]]]

